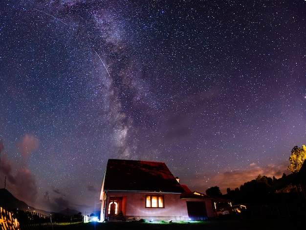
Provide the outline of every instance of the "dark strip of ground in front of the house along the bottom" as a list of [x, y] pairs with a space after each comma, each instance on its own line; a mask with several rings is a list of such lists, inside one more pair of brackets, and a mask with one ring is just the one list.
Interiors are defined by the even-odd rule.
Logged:
[[305, 220], [226, 219], [184, 223], [105, 222], [82, 223], [61, 230], [305, 230]]

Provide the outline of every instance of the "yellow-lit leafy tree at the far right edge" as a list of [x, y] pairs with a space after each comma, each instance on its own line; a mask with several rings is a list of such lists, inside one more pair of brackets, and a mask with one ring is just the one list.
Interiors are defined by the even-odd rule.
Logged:
[[288, 170], [295, 173], [300, 171], [304, 161], [306, 160], [306, 146], [302, 145], [301, 148], [294, 146], [291, 150], [291, 155], [289, 157], [290, 166]]

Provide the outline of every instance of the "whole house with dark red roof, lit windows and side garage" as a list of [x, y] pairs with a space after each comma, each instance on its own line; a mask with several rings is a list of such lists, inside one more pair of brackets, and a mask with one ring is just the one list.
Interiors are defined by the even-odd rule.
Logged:
[[179, 184], [165, 163], [109, 159], [100, 221], [190, 221], [214, 217], [212, 198]]

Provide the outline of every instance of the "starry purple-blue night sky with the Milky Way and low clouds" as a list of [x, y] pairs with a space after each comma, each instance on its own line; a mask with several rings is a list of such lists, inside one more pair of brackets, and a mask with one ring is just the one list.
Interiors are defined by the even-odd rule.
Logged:
[[306, 1], [3, 0], [0, 139], [0, 188], [52, 211], [100, 209], [108, 159], [223, 194], [289, 174]]

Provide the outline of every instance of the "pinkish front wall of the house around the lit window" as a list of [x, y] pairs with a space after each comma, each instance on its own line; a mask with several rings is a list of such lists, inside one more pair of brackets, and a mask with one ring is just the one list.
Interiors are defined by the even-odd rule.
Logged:
[[[147, 221], [188, 221], [186, 200], [180, 199], [180, 194], [156, 193], [164, 196], [164, 208], [146, 208], [146, 195], [155, 193], [136, 192], [108, 192], [106, 208], [112, 196], [123, 197], [123, 205], [119, 210], [123, 212], [126, 221], [145, 219]], [[105, 220], [108, 213], [105, 211]]]

